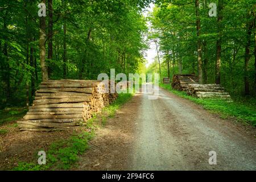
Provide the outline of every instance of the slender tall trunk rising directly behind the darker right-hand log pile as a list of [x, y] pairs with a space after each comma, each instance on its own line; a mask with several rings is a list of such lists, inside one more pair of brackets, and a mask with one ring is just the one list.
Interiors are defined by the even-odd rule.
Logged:
[[198, 76], [199, 83], [203, 84], [203, 71], [202, 71], [202, 45], [200, 40], [201, 35], [201, 20], [200, 20], [200, 9], [199, 0], [195, 1], [196, 5], [196, 30], [197, 30], [197, 65], [198, 65]]

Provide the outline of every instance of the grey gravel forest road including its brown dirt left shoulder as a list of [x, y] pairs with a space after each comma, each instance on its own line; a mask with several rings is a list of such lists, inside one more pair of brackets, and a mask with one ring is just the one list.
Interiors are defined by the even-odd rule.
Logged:
[[[98, 131], [77, 169], [255, 170], [255, 129], [210, 114], [160, 89], [137, 94]], [[217, 153], [210, 165], [209, 152]]]

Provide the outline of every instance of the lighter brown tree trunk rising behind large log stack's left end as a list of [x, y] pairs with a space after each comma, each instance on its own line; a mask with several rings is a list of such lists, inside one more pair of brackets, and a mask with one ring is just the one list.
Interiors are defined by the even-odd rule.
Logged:
[[[46, 3], [46, 0], [43, 0]], [[39, 49], [40, 49], [40, 62], [42, 70], [42, 80], [48, 80], [48, 71], [46, 65], [46, 17], [40, 17], [40, 39], [39, 39]]]

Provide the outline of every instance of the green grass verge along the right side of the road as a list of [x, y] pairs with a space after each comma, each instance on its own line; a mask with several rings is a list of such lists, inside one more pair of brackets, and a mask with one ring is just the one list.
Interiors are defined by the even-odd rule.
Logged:
[[250, 123], [256, 126], [256, 107], [252, 104], [247, 104], [246, 102], [233, 101], [228, 102], [224, 100], [209, 100], [209, 99], [199, 99], [192, 96], [188, 96], [185, 92], [179, 92], [172, 89], [170, 84], [159, 84], [160, 87], [169, 90], [170, 92], [176, 94], [177, 96], [187, 98], [203, 106], [205, 109], [212, 111], [213, 113], [220, 114], [223, 119], [229, 117], [235, 117], [238, 121]]

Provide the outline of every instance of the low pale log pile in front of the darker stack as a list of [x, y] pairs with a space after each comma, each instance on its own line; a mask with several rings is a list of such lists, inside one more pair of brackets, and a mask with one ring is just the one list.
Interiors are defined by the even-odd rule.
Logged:
[[229, 93], [225, 92], [221, 85], [216, 84], [189, 84], [187, 94], [197, 98], [231, 100]]

